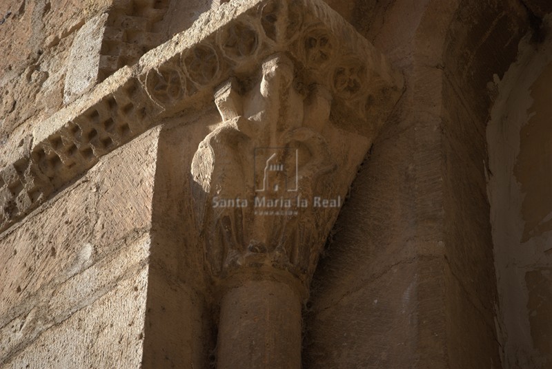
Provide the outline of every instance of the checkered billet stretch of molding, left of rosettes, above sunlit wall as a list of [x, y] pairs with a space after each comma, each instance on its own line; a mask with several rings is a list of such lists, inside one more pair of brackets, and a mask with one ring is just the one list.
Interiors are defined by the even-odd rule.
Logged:
[[121, 85], [37, 143], [28, 157], [0, 170], [3, 227], [146, 129], [144, 92], [136, 84], [131, 79]]

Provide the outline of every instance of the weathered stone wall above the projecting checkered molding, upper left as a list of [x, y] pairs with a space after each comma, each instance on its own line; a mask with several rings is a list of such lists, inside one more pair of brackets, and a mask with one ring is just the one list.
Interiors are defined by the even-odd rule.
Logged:
[[188, 28], [210, 0], [173, 2], [170, 12], [168, 6], [157, 0], [3, 1], [0, 167], [28, 151], [33, 129], [48, 117]]

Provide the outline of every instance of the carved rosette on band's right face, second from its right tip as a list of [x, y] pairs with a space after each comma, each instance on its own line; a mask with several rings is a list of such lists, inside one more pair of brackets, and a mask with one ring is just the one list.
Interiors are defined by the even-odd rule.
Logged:
[[349, 60], [335, 68], [333, 88], [342, 98], [356, 98], [366, 85], [366, 67], [361, 61]]

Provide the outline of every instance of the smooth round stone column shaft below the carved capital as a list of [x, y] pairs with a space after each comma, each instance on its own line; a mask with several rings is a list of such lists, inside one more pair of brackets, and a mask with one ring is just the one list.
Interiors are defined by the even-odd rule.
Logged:
[[217, 368], [301, 368], [301, 297], [264, 278], [229, 286], [220, 306]]

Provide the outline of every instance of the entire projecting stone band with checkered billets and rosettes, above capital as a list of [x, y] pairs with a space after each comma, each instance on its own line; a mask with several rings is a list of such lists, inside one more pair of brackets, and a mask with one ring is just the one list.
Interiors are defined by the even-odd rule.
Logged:
[[[221, 4], [34, 129], [30, 151], [0, 170], [0, 231], [101, 156], [163, 118], [213, 101], [215, 91], [222, 119], [239, 120], [233, 96], [262, 81], [264, 66], [276, 55], [293, 64], [293, 88], [308, 96], [312, 114], [324, 118], [328, 110], [339, 129], [367, 140], [402, 92], [402, 76], [323, 1]], [[221, 98], [221, 85], [231, 79], [238, 87], [228, 91], [239, 91]]]

